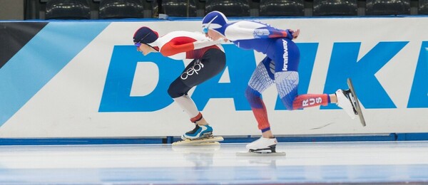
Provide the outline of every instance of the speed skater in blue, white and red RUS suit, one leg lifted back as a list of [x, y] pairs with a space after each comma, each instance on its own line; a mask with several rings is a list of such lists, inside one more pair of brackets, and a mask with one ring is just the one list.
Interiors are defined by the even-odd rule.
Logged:
[[245, 97], [250, 102], [258, 129], [262, 132], [260, 139], [246, 146], [250, 152], [275, 152], [277, 139], [270, 129], [266, 107], [261, 97], [263, 91], [273, 84], [276, 85], [287, 110], [336, 103], [352, 119], [355, 118], [355, 105], [350, 101], [350, 90], [339, 89], [333, 94], [297, 94], [300, 51], [292, 40], [299, 36], [299, 29], [282, 30], [258, 21], [231, 22], [220, 11], [210, 12], [203, 18], [202, 23], [205, 36], [213, 41], [228, 39], [238, 48], [253, 49], [266, 55], [255, 68], [245, 90]]

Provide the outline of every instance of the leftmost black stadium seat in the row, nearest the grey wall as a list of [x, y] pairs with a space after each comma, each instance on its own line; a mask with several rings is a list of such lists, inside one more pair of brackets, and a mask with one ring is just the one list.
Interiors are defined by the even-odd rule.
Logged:
[[46, 2], [46, 19], [89, 19], [88, 0], [50, 0]]

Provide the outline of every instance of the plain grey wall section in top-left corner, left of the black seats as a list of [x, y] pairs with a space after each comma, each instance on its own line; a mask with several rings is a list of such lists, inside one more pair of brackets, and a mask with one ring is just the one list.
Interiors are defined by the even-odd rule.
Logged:
[[0, 20], [24, 20], [24, 0], [0, 0]]

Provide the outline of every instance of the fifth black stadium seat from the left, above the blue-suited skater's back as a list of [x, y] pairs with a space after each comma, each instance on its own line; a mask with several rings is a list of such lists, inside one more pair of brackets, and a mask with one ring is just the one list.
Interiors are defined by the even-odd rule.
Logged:
[[260, 0], [260, 16], [305, 16], [303, 0]]

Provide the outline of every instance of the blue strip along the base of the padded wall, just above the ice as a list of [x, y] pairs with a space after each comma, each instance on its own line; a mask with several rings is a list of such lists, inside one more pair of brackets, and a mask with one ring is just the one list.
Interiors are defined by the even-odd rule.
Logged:
[[[221, 143], [248, 143], [258, 137], [223, 137]], [[314, 137], [276, 137], [278, 142], [390, 142], [428, 140], [428, 133], [391, 133], [379, 135], [330, 135]], [[165, 138], [1, 138], [5, 145], [84, 145], [84, 144], [172, 144], [180, 137]]]

